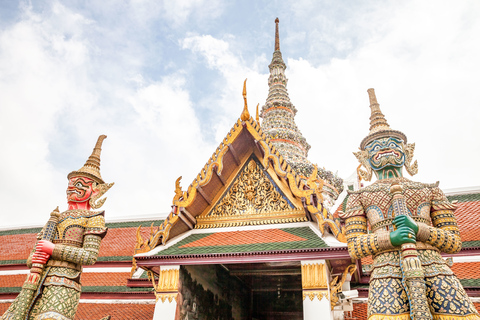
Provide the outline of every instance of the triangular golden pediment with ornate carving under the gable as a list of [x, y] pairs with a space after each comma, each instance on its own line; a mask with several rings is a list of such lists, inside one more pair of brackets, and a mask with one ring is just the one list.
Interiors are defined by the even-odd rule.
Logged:
[[196, 228], [306, 221], [252, 157], [213, 209], [197, 218]]

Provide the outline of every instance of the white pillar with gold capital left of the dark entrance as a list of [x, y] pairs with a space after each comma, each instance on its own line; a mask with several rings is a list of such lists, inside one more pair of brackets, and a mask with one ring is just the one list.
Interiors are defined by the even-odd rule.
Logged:
[[160, 267], [158, 284], [154, 282], [157, 303], [155, 304], [153, 320], [175, 320], [179, 271], [180, 266]]

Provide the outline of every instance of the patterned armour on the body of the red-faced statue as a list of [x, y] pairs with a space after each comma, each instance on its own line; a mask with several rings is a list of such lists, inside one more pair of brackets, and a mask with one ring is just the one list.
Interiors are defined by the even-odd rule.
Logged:
[[[69, 320], [75, 317], [82, 291], [82, 266], [96, 262], [100, 241], [106, 233], [104, 211], [67, 210], [60, 215], [52, 241], [55, 249], [40, 282], [43, 292], [35, 301], [29, 319]], [[34, 252], [35, 249], [29, 261]]]

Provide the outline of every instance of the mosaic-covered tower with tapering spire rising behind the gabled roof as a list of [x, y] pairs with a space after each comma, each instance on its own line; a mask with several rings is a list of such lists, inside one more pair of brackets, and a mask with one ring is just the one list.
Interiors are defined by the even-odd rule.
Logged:
[[[308, 177], [313, 171], [313, 164], [308, 160], [310, 145], [295, 124], [297, 109], [290, 101], [287, 92], [288, 79], [285, 76], [287, 66], [280, 52], [280, 38], [278, 32], [279, 19], [275, 19], [275, 51], [272, 62], [268, 66], [270, 76], [268, 78], [268, 97], [261, 110], [263, 118], [261, 127], [263, 132], [270, 138], [272, 144], [298, 174]], [[327, 206], [342, 192], [343, 181], [332, 172], [322, 168], [318, 169], [318, 175], [326, 185], [324, 195]], [[331, 200], [331, 201], [328, 201]]]

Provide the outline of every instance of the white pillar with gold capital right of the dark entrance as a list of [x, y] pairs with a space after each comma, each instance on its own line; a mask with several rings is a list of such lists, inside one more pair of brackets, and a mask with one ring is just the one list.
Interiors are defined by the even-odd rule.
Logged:
[[325, 260], [302, 261], [303, 319], [333, 319]]

